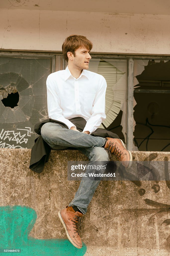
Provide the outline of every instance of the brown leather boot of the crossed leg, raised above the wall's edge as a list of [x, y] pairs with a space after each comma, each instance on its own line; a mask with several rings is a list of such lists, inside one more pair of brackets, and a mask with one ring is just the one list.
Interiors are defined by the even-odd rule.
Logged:
[[125, 168], [130, 168], [132, 165], [132, 154], [125, 148], [125, 145], [120, 139], [106, 138], [108, 139], [104, 148], [114, 154], [122, 162]]

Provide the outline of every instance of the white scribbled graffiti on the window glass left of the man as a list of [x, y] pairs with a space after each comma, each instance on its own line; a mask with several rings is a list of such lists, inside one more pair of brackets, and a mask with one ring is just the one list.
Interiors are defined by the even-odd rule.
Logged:
[[[0, 148], [27, 148], [22, 145], [27, 144], [28, 137], [33, 133], [30, 127], [18, 129], [17, 132], [2, 129], [0, 132]], [[15, 142], [14, 145], [12, 142]], [[22, 144], [22, 145], [21, 145]]]

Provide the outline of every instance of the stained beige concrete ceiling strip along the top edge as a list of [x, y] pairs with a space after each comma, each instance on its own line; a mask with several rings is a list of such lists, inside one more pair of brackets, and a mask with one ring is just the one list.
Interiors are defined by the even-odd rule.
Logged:
[[0, 8], [76, 12], [170, 14], [169, 0], [1, 0]]

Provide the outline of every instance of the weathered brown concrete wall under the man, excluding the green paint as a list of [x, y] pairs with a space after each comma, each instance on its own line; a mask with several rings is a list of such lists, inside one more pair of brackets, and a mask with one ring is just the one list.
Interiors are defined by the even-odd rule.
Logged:
[[[67, 161], [87, 158], [76, 150], [52, 150], [43, 172], [37, 174], [29, 169], [30, 153], [27, 149], [0, 150], [0, 209], [31, 207], [37, 219], [30, 236], [67, 239], [57, 212], [72, 200], [80, 183], [67, 180]], [[170, 152], [132, 154], [134, 160], [170, 161]], [[83, 217], [85, 255], [170, 255], [169, 196], [165, 181], [100, 182]]]

